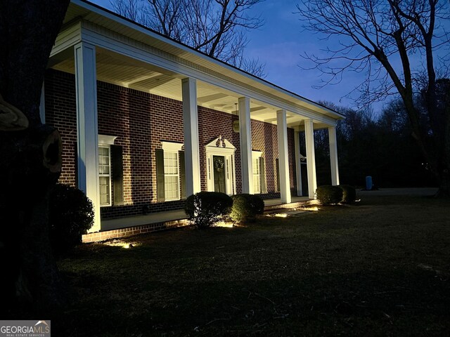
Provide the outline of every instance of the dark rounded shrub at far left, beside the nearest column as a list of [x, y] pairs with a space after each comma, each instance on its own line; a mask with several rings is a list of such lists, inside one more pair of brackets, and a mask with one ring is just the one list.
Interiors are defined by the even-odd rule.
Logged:
[[50, 242], [53, 251], [66, 253], [82, 243], [94, 224], [94, 209], [86, 194], [75, 187], [56, 184], [49, 196]]

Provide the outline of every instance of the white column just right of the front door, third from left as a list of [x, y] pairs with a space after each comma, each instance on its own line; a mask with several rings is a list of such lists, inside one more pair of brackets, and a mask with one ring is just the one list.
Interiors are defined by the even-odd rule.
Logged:
[[241, 97], [239, 103], [240, 169], [242, 192], [253, 194], [252, 130], [250, 124], [250, 98]]

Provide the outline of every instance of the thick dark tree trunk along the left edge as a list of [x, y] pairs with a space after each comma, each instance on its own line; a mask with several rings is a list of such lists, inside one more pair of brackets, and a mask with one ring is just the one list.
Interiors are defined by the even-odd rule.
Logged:
[[42, 312], [64, 302], [48, 226], [48, 195], [60, 173], [61, 143], [58, 131], [41, 124], [39, 100], [68, 4], [0, 1], [2, 311], [8, 304], [26, 303]]

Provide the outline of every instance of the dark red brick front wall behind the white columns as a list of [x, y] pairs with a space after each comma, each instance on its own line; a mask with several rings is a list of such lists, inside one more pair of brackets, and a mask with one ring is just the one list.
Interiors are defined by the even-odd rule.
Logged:
[[[161, 141], [183, 143], [182, 103], [150, 93], [143, 93], [114, 84], [97, 82], [98, 133], [117, 136], [124, 164], [124, 204], [101, 208], [102, 218], [134, 216], [147, 211], [180, 209], [183, 201], [156, 201], [155, 150]], [[46, 122], [56, 126], [63, 139], [63, 173], [60, 182], [76, 184], [76, 103], [75, 76], [49, 70], [45, 81]], [[201, 188], [207, 190], [205, 145], [222, 136], [236, 147], [236, 189], [241, 191], [239, 133], [233, 132], [236, 115], [198, 107]], [[293, 169], [293, 129], [288, 129], [291, 189], [295, 190]], [[267, 194], [279, 197], [276, 191], [278, 157], [276, 125], [252, 120], [252, 150], [263, 152], [266, 159]]]

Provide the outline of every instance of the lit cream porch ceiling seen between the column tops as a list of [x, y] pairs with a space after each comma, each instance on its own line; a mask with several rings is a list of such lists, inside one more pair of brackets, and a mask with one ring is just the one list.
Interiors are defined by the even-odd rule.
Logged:
[[[75, 60], [73, 53], [67, 54], [63, 60], [51, 60], [52, 68], [63, 72], [75, 73]], [[127, 88], [133, 88], [146, 93], [153, 93], [174, 100], [182, 100], [182, 76], [149, 65], [146, 62], [128, 58], [103, 48], [96, 48], [97, 79]], [[198, 105], [219, 110], [229, 114], [236, 114], [239, 95], [227, 89], [197, 82]], [[276, 124], [277, 107], [250, 100], [251, 118], [258, 121]], [[299, 128], [305, 117], [288, 112], [288, 127]], [[320, 127], [319, 124], [314, 125]]]

